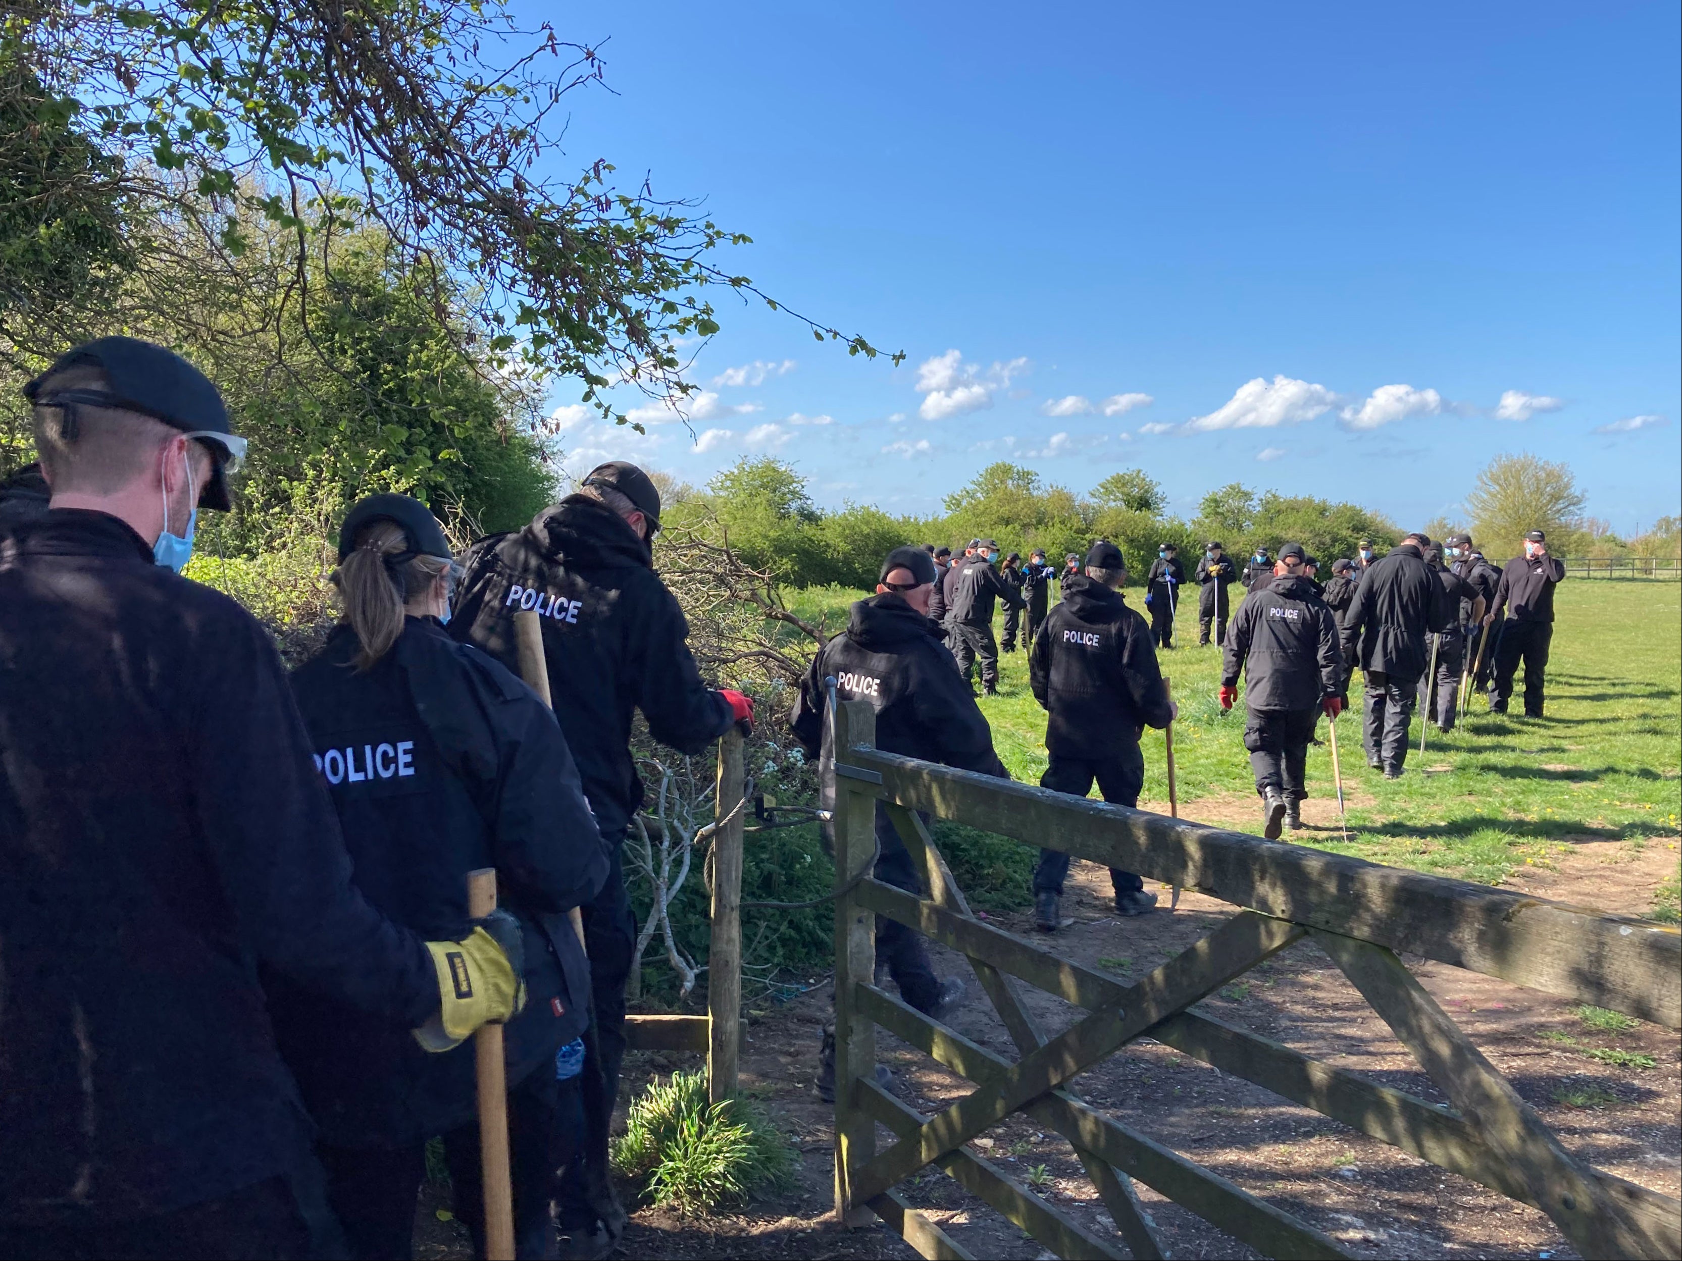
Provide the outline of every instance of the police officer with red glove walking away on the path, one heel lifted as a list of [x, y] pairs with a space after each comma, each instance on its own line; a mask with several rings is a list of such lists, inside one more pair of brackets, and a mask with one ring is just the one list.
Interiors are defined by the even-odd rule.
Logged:
[[1251, 590], [1233, 619], [1221, 671], [1221, 708], [1238, 699], [1245, 669], [1245, 748], [1262, 797], [1262, 836], [1278, 841], [1280, 826], [1302, 827], [1309, 795], [1309, 741], [1320, 715], [1344, 708], [1344, 654], [1337, 619], [1325, 607], [1307, 568], [1300, 543], [1278, 550], [1273, 582]]

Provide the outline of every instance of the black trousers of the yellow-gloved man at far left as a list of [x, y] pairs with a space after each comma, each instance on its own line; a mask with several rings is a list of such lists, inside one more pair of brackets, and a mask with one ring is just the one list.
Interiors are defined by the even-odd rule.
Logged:
[[[19, 1157], [27, 1158], [27, 1153]], [[414, 1221], [414, 1202], [409, 1219]], [[284, 1261], [308, 1256], [315, 1256], [309, 1227], [284, 1177], [155, 1217], [0, 1224], [3, 1261]]]

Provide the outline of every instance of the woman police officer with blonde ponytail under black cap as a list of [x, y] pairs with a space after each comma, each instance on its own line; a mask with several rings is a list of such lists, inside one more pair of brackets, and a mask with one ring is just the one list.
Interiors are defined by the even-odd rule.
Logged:
[[[523, 926], [528, 1004], [510, 1026], [516, 1251], [548, 1256], [555, 1140], [577, 1133], [577, 1079], [555, 1054], [589, 1022], [590, 973], [567, 911], [607, 878], [607, 846], [567, 741], [537, 694], [442, 627], [454, 562], [437, 518], [375, 494], [338, 533], [345, 617], [293, 674], [338, 807], [357, 888], [395, 923], [458, 935], [466, 878], [496, 868]], [[471, 1047], [427, 1056], [394, 1027], [278, 977], [276, 1037], [321, 1128], [333, 1209], [360, 1258], [410, 1256], [426, 1142], [444, 1135], [456, 1216], [483, 1256]], [[562, 1101], [565, 1095], [565, 1103]]]

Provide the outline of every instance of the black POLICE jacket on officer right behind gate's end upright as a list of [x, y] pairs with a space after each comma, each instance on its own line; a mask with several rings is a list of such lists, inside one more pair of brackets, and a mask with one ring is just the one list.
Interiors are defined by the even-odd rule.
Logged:
[[[821, 765], [833, 760], [828, 676], [836, 679], [838, 699], [870, 701], [876, 748], [1008, 778], [992, 752], [992, 728], [957, 662], [934, 624], [898, 594], [854, 604], [846, 630], [824, 644], [801, 679], [789, 726]], [[831, 804], [828, 775], [824, 804]]]

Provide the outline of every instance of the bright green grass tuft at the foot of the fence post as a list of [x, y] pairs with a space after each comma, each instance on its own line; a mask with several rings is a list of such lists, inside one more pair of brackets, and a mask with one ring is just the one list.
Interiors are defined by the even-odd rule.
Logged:
[[708, 1103], [706, 1074], [695, 1071], [654, 1079], [631, 1103], [612, 1162], [622, 1177], [646, 1180], [656, 1207], [693, 1216], [787, 1187], [796, 1155], [757, 1105]]

